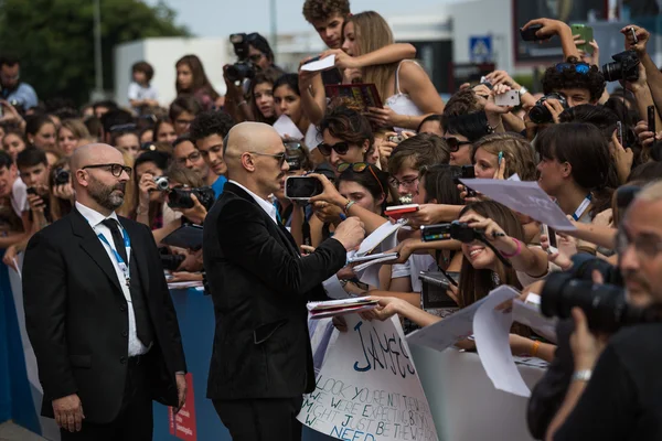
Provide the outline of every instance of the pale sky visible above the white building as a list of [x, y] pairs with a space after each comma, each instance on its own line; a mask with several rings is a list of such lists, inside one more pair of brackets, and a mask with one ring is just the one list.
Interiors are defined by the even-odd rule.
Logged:
[[[269, 32], [270, 0], [163, 0], [178, 13], [178, 22], [199, 36], [225, 36], [235, 32]], [[156, 4], [158, 0], [146, 0]], [[303, 0], [275, 0], [278, 33], [306, 31]], [[382, 15], [434, 10], [445, 0], [351, 0], [352, 11], [375, 10]]]

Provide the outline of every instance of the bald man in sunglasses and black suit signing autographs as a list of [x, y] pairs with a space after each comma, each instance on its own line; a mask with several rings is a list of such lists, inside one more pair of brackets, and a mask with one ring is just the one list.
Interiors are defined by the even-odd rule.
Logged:
[[289, 170], [273, 127], [235, 126], [224, 144], [228, 182], [204, 223], [204, 267], [216, 332], [207, 398], [235, 441], [300, 440], [305, 392], [314, 390], [306, 303], [363, 240], [351, 217], [306, 257], [269, 195]]

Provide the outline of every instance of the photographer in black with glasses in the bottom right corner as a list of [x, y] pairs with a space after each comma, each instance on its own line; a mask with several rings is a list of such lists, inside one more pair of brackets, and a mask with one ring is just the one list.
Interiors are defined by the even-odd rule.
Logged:
[[[617, 250], [626, 295], [643, 306], [662, 301], [662, 184], [637, 195], [619, 232]], [[632, 325], [609, 343], [589, 331], [590, 316], [573, 310], [575, 375], [547, 430], [547, 440], [653, 440], [662, 437], [662, 362], [656, 323]]]

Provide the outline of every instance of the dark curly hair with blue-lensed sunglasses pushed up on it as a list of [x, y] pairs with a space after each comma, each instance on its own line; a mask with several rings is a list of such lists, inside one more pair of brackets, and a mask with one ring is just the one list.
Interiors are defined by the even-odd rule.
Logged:
[[[580, 62], [570, 56], [567, 63], [576, 65]], [[560, 89], [586, 89], [590, 94], [591, 103], [596, 103], [605, 92], [605, 77], [596, 65], [590, 66], [586, 74], [580, 74], [572, 67], [563, 68], [560, 72], [557, 71], [556, 65], [547, 67], [543, 76], [543, 93], [547, 95]]]

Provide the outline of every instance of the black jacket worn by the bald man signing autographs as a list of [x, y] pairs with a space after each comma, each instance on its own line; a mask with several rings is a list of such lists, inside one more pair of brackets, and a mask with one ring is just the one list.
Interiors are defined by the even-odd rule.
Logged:
[[211, 399], [293, 398], [314, 390], [308, 300], [346, 252], [330, 239], [301, 258], [290, 234], [244, 190], [226, 183], [204, 223], [204, 267], [216, 332]]

